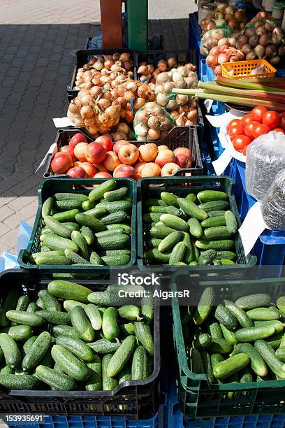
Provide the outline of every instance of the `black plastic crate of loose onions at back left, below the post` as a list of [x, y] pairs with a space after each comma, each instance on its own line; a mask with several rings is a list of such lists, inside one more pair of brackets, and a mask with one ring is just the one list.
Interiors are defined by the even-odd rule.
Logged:
[[134, 79], [136, 80], [136, 78], [137, 78], [136, 52], [133, 49], [120, 48], [120, 49], [83, 49], [83, 50], [77, 50], [75, 52], [76, 64], [75, 64], [75, 68], [73, 70], [73, 75], [71, 78], [71, 84], [68, 85], [68, 87], [67, 87], [68, 104], [70, 104], [71, 100], [73, 100], [74, 98], [76, 98], [78, 96], [79, 91], [73, 90], [73, 87], [75, 87], [75, 80], [76, 80], [76, 74], [77, 74], [78, 69], [80, 69], [80, 67], [82, 67], [84, 64], [86, 64], [89, 61], [89, 59], [92, 59], [96, 55], [112, 55], [115, 52], [118, 52], [118, 53], [128, 52], [129, 54], [131, 54], [131, 59], [133, 59], [133, 74], [134, 74]]

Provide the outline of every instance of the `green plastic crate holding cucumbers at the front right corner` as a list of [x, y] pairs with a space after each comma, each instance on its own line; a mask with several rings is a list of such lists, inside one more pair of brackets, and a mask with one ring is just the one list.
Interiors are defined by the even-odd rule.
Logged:
[[[258, 292], [270, 294], [272, 301], [285, 295], [285, 278], [243, 281], [197, 280], [195, 283], [193, 279], [191, 281], [189, 279], [187, 269], [175, 273], [171, 278], [171, 290], [175, 292], [185, 289], [183, 284], [187, 281], [193, 303], [200, 299], [205, 287], [210, 286], [216, 289], [219, 301], [222, 299], [235, 301], [239, 297]], [[208, 418], [224, 415], [285, 413], [285, 380], [210, 384], [205, 374], [193, 373], [187, 362], [178, 299], [173, 299], [172, 311], [178, 399], [184, 415], [189, 418]]]

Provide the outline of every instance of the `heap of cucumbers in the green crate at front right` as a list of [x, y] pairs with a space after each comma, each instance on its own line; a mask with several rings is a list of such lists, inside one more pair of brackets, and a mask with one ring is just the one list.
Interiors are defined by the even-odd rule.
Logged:
[[268, 294], [214, 301], [207, 287], [198, 306], [182, 314], [191, 371], [205, 373], [209, 383], [285, 379], [285, 297], [276, 306]]

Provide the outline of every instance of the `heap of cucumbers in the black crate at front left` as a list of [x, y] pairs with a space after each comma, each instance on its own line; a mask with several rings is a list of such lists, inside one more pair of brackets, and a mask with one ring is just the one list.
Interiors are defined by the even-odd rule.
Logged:
[[138, 306], [128, 304], [118, 297], [123, 288], [109, 285], [104, 292], [92, 292], [54, 280], [36, 301], [10, 290], [0, 308], [0, 385], [9, 390], [105, 391], [126, 380], [148, 378], [153, 371], [154, 302], [147, 297]]

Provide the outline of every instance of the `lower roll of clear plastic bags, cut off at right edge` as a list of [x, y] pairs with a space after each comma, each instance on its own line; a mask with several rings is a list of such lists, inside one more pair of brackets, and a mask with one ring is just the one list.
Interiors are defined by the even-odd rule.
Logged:
[[279, 171], [269, 187], [263, 199], [261, 211], [270, 229], [285, 230], [285, 169]]

